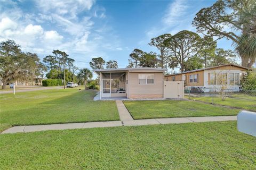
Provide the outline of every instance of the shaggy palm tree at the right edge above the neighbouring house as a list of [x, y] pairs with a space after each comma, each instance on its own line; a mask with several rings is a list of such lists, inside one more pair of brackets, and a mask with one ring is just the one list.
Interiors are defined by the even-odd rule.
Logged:
[[239, 13], [239, 25], [243, 28], [242, 35], [236, 46], [242, 58], [242, 65], [251, 67], [256, 61], [256, 5], [247, 4]]

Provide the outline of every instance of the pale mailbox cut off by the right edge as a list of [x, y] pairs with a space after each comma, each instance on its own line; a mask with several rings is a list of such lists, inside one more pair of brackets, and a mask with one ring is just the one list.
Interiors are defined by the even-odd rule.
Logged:
[[237, 115], [237, 129], [240, 132], [256, 137], [256, 113], [240, 111]]

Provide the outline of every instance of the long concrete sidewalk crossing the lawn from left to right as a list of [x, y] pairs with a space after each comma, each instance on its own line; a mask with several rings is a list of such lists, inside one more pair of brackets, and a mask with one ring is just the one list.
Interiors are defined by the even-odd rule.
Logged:
[[177, 124], [177, 123], [236, 121], [236, 120], [237, 120], [237, 116], [206, 116], [206, 117], [152, 118], [152, 119], [145, 119], [145, 120], [124, 120], [124, 121], [109, 121], [109, 122], [29, 125], [29, 126], [14, 126], [10, 129], [3, 131], [2, 134], [18, 133], [18, 132], [37, 132], [37, 131], [46, 131], [46, 130], [105, 128], [105, 127], [116, 127], [116, 126], [140, 126], [140, 125], [152, 125], [152, 124]]

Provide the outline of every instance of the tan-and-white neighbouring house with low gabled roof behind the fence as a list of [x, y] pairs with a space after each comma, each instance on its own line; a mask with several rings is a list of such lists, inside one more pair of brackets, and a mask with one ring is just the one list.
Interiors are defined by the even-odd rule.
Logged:
[[165, 81], [184, 81], [186, 88], [215, 88], [219, 89], [223, 84], [227, 89], [239, 90], [241, 80], [249, 69], [236, 64], [225, 64], [205, 69], [187, 71], [183, 73], [165, 75]]

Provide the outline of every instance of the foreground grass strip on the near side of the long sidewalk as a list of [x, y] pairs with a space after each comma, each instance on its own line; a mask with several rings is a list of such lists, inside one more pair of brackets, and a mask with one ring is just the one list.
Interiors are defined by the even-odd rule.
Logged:
[[233, 121], [0, 137], [1, 169], [256, 169], [256, 138]]

